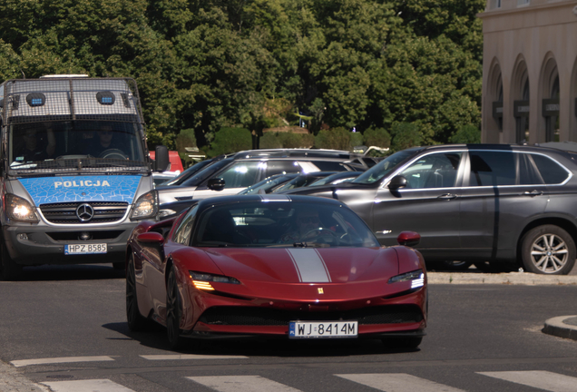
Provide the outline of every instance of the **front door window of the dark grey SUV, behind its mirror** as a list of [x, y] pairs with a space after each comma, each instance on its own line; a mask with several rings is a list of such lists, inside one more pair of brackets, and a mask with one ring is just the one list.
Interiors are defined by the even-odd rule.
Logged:
[[462, 152], [440, 152], [425, 155], [400, 174], [410, 189], [451, 188], [455, 186]]

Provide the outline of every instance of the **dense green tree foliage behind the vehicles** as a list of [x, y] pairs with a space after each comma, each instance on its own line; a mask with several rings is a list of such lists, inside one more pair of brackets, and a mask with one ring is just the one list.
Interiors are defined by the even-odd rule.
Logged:
[[[415, 124], [420, 142], [480, 126], [485, 0], [5, 0], [0, 75], [129, 76], [149, 143]], [[215, 137], [214, 142], [218, 141]]]

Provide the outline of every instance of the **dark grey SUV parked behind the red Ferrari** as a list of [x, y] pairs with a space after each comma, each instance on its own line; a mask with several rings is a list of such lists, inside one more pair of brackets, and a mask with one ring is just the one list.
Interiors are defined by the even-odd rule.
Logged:
[[344, 201], [394, 245], [421, 234], [427, 261], [519, 262], [567, 274], [577, 240], [577, 154], [505, 144], [416, 147], [343, 184], [285, 193]]

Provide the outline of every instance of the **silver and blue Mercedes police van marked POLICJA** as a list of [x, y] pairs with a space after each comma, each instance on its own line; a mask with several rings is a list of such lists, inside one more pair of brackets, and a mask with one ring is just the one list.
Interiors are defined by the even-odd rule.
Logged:
[[130, 78], [50, 75], [0, 84], [0, 272], [112, 262], [158, 211], [137, 85]]

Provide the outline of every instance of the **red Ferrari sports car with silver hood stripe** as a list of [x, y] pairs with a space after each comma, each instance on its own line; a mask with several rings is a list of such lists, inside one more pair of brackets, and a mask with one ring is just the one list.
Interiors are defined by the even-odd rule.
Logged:
[[380, 338], [416, 348], [425, 335], [425, 262], [384, 248], [342, 202], [235, 195], [179, 217], [143, 221], [128, 241], [126, 313], [132, 330], [165, 326], [183, 338]]

